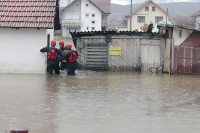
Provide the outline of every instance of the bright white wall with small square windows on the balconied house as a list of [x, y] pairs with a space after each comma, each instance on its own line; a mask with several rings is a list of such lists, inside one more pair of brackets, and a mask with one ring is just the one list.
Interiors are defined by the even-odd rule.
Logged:
[[[89, 17], [86, 17], [85, 14], [89, 14]], [[92, 17], [92, 14], [95, 14], [95, 17]], [[95, 21], [95, 24], [92, 24], [92, 21]], [[96, 31], [101, 30], [101, 21], [101, 11], [88, 0], [81, 0], [81, 31], [92, 31], [92, 27], [95, 27]]]

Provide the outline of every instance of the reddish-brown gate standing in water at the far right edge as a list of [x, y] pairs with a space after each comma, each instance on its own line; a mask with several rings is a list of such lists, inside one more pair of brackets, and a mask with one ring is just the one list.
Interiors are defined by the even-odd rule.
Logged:
[[200, 48], [179, 47], [178, 73], [200, 74]]

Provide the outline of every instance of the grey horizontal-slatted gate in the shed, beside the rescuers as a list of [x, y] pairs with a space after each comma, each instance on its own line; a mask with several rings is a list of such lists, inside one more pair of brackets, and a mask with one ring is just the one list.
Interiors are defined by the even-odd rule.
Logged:
[[86, 45], [86, 69], [108, 70], [108, 44], [90, 43]]

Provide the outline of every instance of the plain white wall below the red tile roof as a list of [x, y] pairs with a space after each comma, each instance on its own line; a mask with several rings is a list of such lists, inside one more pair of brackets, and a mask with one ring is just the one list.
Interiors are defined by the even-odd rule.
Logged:
[[1, 73], [44, 73], [47, 45], [46, 29], [0, 29]]

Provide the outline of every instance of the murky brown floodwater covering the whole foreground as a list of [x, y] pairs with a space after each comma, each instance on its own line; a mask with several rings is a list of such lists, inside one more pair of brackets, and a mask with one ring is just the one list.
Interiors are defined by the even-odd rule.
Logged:
[[0, 133], [199, 133], [200, 76], [0, 74]]

